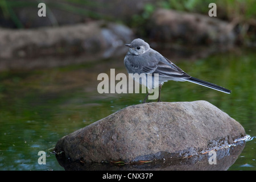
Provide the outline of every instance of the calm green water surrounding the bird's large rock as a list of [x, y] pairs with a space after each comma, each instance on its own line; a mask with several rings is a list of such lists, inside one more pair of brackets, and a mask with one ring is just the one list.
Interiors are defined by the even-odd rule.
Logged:
[[[169, 59], [171, 56], [165, 55]], [[163, 85], [162, 101], [206, 100], [225, 111], [256, 136], [256, 51], [239, 49], [204, 59], [174, 61], [193, 77], [232, 90], [217, 92], [189, 82]], [[123, 57], [69, 67], [0, 73], [0, 170], [64, 170], [53, 148], [61, 137], [129, 105], [144, 94], [99, 94], [99, 73], [126, 73]], [[256, 140], [229, 170], [256, 169]], [[38, 152], [47, 153], [38, 164]]]

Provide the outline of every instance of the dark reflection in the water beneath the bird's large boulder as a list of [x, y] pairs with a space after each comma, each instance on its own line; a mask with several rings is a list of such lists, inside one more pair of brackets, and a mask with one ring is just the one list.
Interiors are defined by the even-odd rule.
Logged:
[[133, 163], [84, 163], [69, 162], [58, 155], [58, 162], [66, 171], [225, 171], [229, 169], [241, 154], [245, 142], [216, 151], [216, 163], [212, 163], [213, 154], [209, 152], [187, 158], [150, 160]]

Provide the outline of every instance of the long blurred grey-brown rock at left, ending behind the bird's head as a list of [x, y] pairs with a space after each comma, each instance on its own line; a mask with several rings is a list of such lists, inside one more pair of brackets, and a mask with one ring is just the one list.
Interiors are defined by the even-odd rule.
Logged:
[[[106, 53], [133, 40], [130, 28], [104, 21], [56, 28], [32, 30], [0, 29], [0, 57], [40, 57], [85, 52], [103, 57], [122, 55]], [[123, 49], [127, 51], [126, 49]]]

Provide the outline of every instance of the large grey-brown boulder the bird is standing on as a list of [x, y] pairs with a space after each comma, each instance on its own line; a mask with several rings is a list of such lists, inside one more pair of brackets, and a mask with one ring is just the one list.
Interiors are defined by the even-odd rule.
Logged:
[[61, 138], [55, 152], [69, 161], [184, 158], [233, 144], [243, 127], [207, 101], [126, 107]]

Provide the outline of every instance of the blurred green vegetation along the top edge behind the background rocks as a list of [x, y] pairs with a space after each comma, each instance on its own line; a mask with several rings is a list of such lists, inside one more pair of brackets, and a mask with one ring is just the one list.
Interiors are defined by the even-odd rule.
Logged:
[[[0, 24], [3, 21], [9, 21], [16, 28], [25, 28], [26, 25], [20, 20], [17, 15], [17, 10], [24, 7], [36, 7], [42, 1], [22, 1], [22, 0], [0, 0], [0, 18], [3, 16]], [[48, 18], [51, 19], [53, 26], [58, 26], [57, 18], [52, 13], [53, 9], [62, 10], [71, 14], [79, 15], [82, 18], [89, 19], [104, 19], [115, 22], [121, 22], [132, 28], [137, 28], [138, 34], [146, 35], [146, 30], [141, 27], [146, 27], [145, 24], [150, 19], [150, 16], [158, 8], [173, 9], [192, 13], [200, 13], [208, 15], [209, 3], [216, 3], [217, 18], [228, 20], [234, 24], [236, 31], [244, 39], [250, 39], [255, 42], [256, 36], [256, 0], [159, 0], [149, 1], [143, 7], [143, 11], [139, 14], [134, 14], [126, 19], [121, 19], [111, 14], [104, 14], [102, 10], [112, 7], [112, 3], [102, 3], [99, 1], [90, 0], [62, 0], [62, 1], [46, 1]], [[138, 28], [140, 27], [140, 28]], [[138, 30], [139, 29], [139, 30]]]

